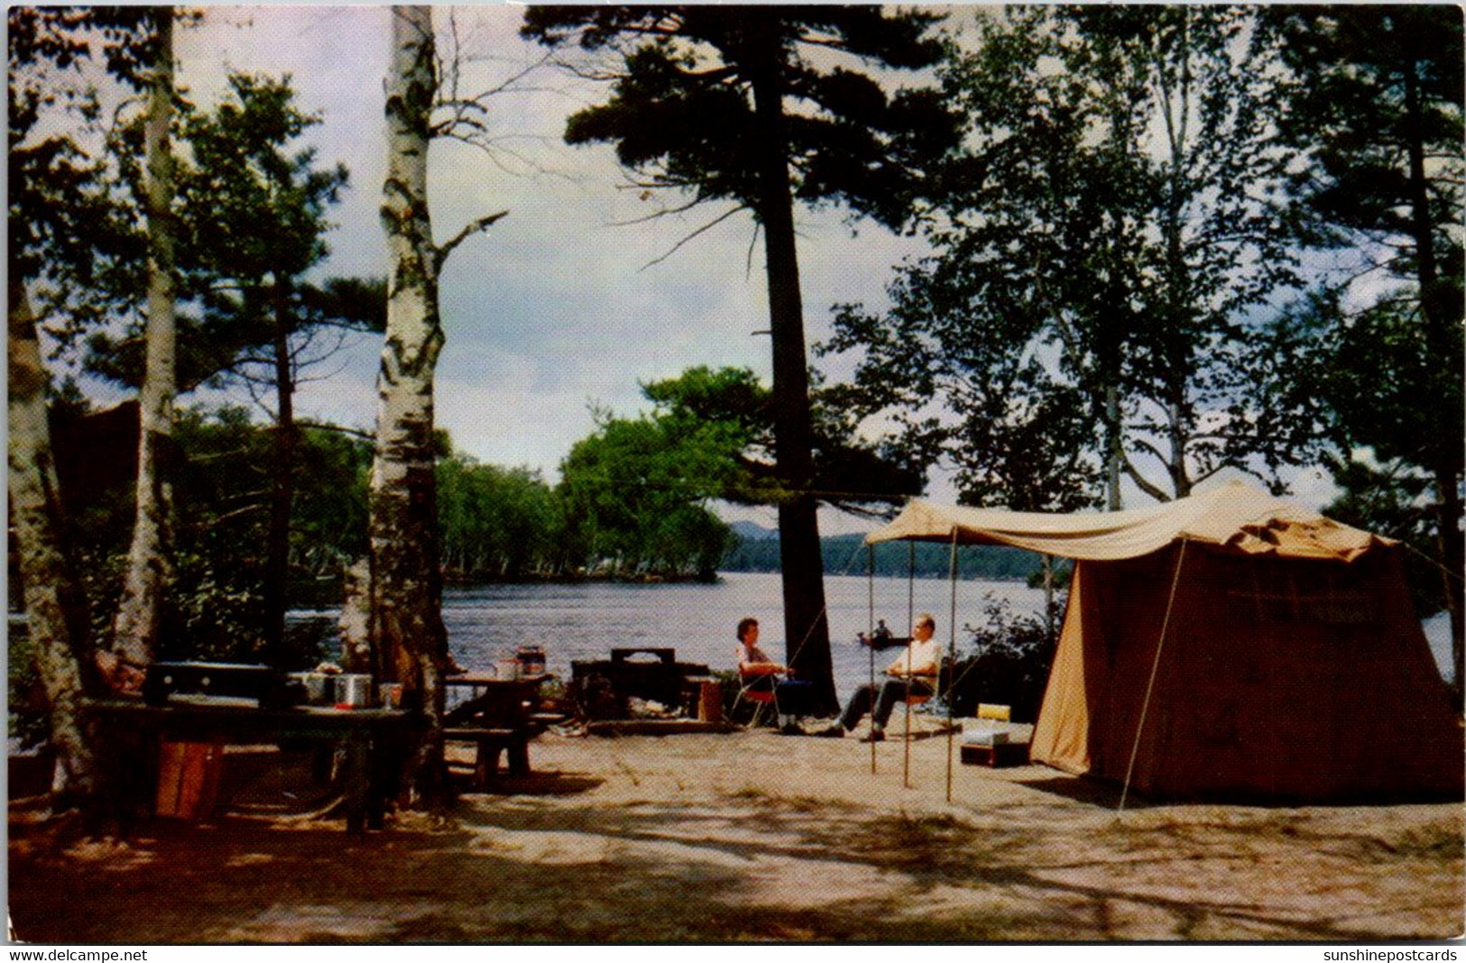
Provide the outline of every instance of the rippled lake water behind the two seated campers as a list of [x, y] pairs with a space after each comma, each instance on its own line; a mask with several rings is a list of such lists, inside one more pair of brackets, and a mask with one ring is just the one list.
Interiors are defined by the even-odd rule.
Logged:
[[[937, 638], [950, 630], [951, 583], [916, 579], [910, 583], [915, 611], [937, 617]], [[875, 617], [906, 635], [907, 579], [874, 580]], [[866, 630], [871, 582], [865, 576], [825, 576], [830, 648], [836, 689], [844, 698], [869, 673], [868, 654], [856, 642]], [[1014, 613], [1039, 613], [1044, 594], [1022, 582], [959, 582], [957, 645], [963, 623], [982, 623], [987, 597], [1006, 599]], [[677, 649], [683, 663], [733, 668], [740, 619], [758, 619], [759, 645], [771, 658], [784, 658], [783, 602], [778, 575], [732, 572], [712, 585], [491, 585], [449, 589], [443, 621], [449, 648], [460, 665], [488, 670], [496, 658], [512, 657], [525, 643], [542, 645], [550, 670], [570, 677], [572, 660], [608, 658], [611, 648]], [[881, 660], [890, 661], [890, 658]], [[877, 664], [880, 671], [881, 664]]]

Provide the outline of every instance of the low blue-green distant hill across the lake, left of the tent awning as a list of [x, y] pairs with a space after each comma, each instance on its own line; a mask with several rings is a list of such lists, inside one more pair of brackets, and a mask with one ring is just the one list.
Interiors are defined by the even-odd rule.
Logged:
[[[754, 522], [734, 522], [737, 544], [723, 556], [720, 572], [778, 572], [778, 532]], [[755, 531], [756, 529], [756, 531]], [[745, 534], [748, 532], [748, 534]], [[861, 535], [821, 538], [825, 575], [865, 575], [866, 560]], [[909, 544], [883, 542], [875, 547], [875, 573], [905, 576], [912, 569]], [[951, 563], [946, 545], [916, 542], [918, 578], [947, 578]], [[957, 551], [957, 570], [963, 579], [1028, 579], [1039, 570], [1038, 556], [1003, 545], [970, 545]]]

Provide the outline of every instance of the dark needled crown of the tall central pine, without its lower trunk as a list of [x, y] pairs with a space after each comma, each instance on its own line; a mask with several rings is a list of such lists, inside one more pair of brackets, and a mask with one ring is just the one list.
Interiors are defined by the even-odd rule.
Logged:
[[896, 226], [921, 188], [922, 161], [950, 142], [951, 120], [929, 88], [887, 94], [850, 66], [931, 66], [938, 19], [874, 6], [537, 6], [522, 32], [622, 53], [611, 98], [573, 114], [566, 139], [613, 142], [649, 186], [695, 202], [759, 210], [759, 151], [777, 133], [756, 113], [754, 88], [777, 76], [795, 198]]

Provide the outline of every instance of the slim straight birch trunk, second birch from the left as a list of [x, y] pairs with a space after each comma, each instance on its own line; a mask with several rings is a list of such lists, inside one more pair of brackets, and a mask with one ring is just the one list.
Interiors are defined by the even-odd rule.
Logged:
[[[141, 668], [152, 661], [161, 633], [164, 592], [172, 575], [170, 516], [173, 488], [164, 462], [173, 434], [174, 387], [174, 237], [173, 154], [173, 7], [157, 7], [157, 63], [147, 117], [148, 166], [148, 325], [147, 372], [139, 393], [138, 492], [122, 602], [113, 623], [113, 652]], [[141, 677], [128, 676], [123, 687]]]

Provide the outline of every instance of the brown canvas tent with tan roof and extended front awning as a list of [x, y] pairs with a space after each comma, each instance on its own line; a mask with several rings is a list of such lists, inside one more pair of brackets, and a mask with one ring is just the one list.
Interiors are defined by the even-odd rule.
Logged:
[[1152, 509], [912, 501], [866, 541], [1075, 560], [1031, 758], [1151, 799], [1462, 792], [1450, 709], [1390, 539], [1234, 482]]

